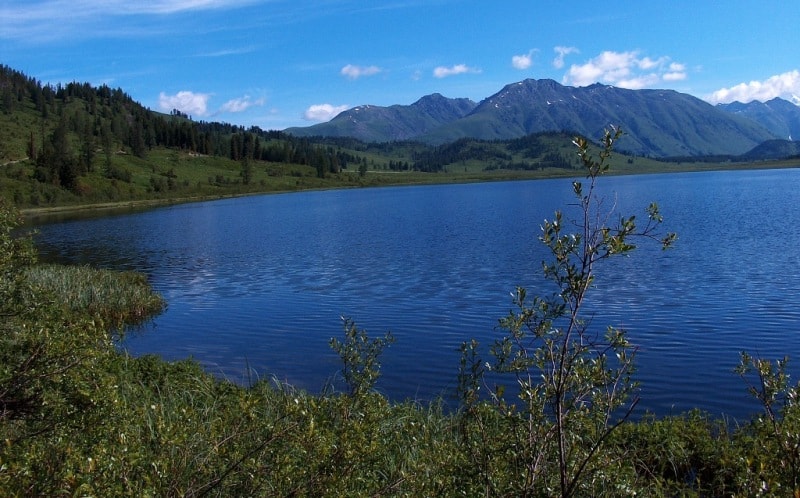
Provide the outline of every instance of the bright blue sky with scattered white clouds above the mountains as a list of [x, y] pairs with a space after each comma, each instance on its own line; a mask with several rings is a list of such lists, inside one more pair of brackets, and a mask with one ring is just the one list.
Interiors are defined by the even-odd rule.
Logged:
[[0, 63], [264, 129], [551, 78], [800, 103], [795, 0], [0, 0]]

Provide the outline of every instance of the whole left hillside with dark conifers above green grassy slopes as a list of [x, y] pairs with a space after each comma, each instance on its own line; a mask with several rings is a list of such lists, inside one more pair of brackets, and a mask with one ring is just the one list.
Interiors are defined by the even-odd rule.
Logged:
[[120, 88], [45, 85], [0, 66], [0, 195], [20, 207], [360, 184], [340, 173], [367, 164], [330, 141], [193, 121]]

